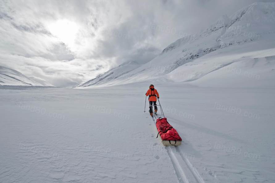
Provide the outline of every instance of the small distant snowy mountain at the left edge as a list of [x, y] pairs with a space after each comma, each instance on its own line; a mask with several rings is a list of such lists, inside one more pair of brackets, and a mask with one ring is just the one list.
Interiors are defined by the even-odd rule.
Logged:
[[0, 66], [0, 85], [12, 86], [44, 86], [23, 75], [21, 72]]

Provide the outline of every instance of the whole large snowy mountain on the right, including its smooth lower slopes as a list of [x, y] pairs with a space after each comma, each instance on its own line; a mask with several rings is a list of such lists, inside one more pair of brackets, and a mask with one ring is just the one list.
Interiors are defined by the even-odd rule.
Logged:
[[[235, 77], [242, 76], [244, 81], [252, 81], [251, 78], [259, 78], [258, 75], [260, 80], [256, 79], [259, 82], [256, 85], [269, 86], [274, 82], [269, 83], [265, 79], [275, 78], [274, 38], [275, 3], [257, 2], [230, 17], [222, 16], [200, 34], [178, 39], [148, 63], [136, 65], [136, 68], [130, 68], [128, 64], [121, 65], [78, 87], [142, 81], [189, 82], [196, 85], [209, 83], [216, 86], [213, 79], [224, 86], [234, 86]], [[229, 71], [224, 72], [221, 68]], [[240, 74], [234, 73], [236, 68], [241, 70]], [[114, 72], [116, 70], [117, 74]], [[255, 86], [254, 82], [244, 84], [240, 80], [238, 86]]]

